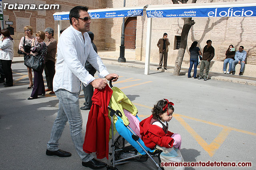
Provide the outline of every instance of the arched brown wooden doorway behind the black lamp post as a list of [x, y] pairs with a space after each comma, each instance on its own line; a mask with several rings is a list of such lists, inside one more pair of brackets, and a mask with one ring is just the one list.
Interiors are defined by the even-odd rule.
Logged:
[[124, 24], [124, 46], [135, 49], [137, 17], [129, 17]]

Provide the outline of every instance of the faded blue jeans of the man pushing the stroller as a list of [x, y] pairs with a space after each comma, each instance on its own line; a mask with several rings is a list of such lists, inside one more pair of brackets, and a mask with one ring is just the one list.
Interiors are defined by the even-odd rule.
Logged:
[[79, 107], [79, 92], [71, 93], [64, 89], [58, 89], [55, 92], [59, 99], [58, 115], [53, 123], [50, 141], [47, 143], [47, 149], [51, 151], [58, 150], [58, 141], [62, 135], [64, 127], [68, 121], [70, 134], [75, 145], [76, 152], [83, 162], [92, 160], [93, 156], [83, 150], [84, 138], [82, 137], [82, 115]]

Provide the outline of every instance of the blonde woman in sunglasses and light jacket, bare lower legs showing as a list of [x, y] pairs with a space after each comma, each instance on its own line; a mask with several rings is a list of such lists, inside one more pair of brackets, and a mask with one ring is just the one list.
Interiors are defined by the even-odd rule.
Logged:
[[[34, 46], [34, 43], [32, 43], [32, 39], [35, 38], [33, 36], [33, 28], [30, 25], [27, 25], [24, 27], [24, 31], [26, 36], [22, 37], [20, 39], [20, 45], [19, 45], [19, 49], [20, 51], [22, 51], [23, 53], [25, 53], [25, 55], [29, 55], [30, 53], [30, 49], [31, 46]], [[25, 44], [24, 44], [24, 38], [25, 38]], [[28, 79], [29, 79], [29, 86], [28, 89], [33, 88], [33, 82], [32, 82], [32, 69], [28, 68]]]

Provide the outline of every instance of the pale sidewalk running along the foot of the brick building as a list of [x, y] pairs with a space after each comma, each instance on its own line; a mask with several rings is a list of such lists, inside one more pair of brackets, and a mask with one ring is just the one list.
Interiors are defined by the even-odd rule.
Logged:
[[[119, 51], [98, 51], [98, 55], [101, 57], [104, 64], [118, 65], [124, 67], [134, 67], [134, 68], [142, 68], [144, 69], [145, 63], [144, 61], [136, 61], [134, 51], [125, 51], [126, 63], [118, 63]], [[14, 57], [12, 63], [23, 63], [24, 57]], [[173, 73], [174, 66], [167, 66], [167, 70], [156, 68], [158, 67], [158, 63], [150, 63], [150, 70], [158, 71], [158, 72], [169, 72]], [[193, 71], [194, 69], [192, 69]], [[199, 73], [199, 68], [198, 68]], [[180, 70], [180, 75], [187, 75], [188, 68], [182, 67]], [[239, 84], [247, 84], [250, 86], [256, 86], [256, 77], [249, 76], [239, 76], [232, 74], [223, 74], [220, 72], [211, 72], [209, 71], [209, 79], [213, 80], [221, 80], [225, 82], [234, 82]]]

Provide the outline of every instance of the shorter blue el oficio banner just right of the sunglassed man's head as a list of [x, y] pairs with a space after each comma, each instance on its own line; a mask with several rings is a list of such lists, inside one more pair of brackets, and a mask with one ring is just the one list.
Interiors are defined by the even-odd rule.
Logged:
[[143, 16], [143, 8], [135, 10], [113, 10], [100, 12], [90, 12], [89, 10], [88, 12], [92, 19]]

